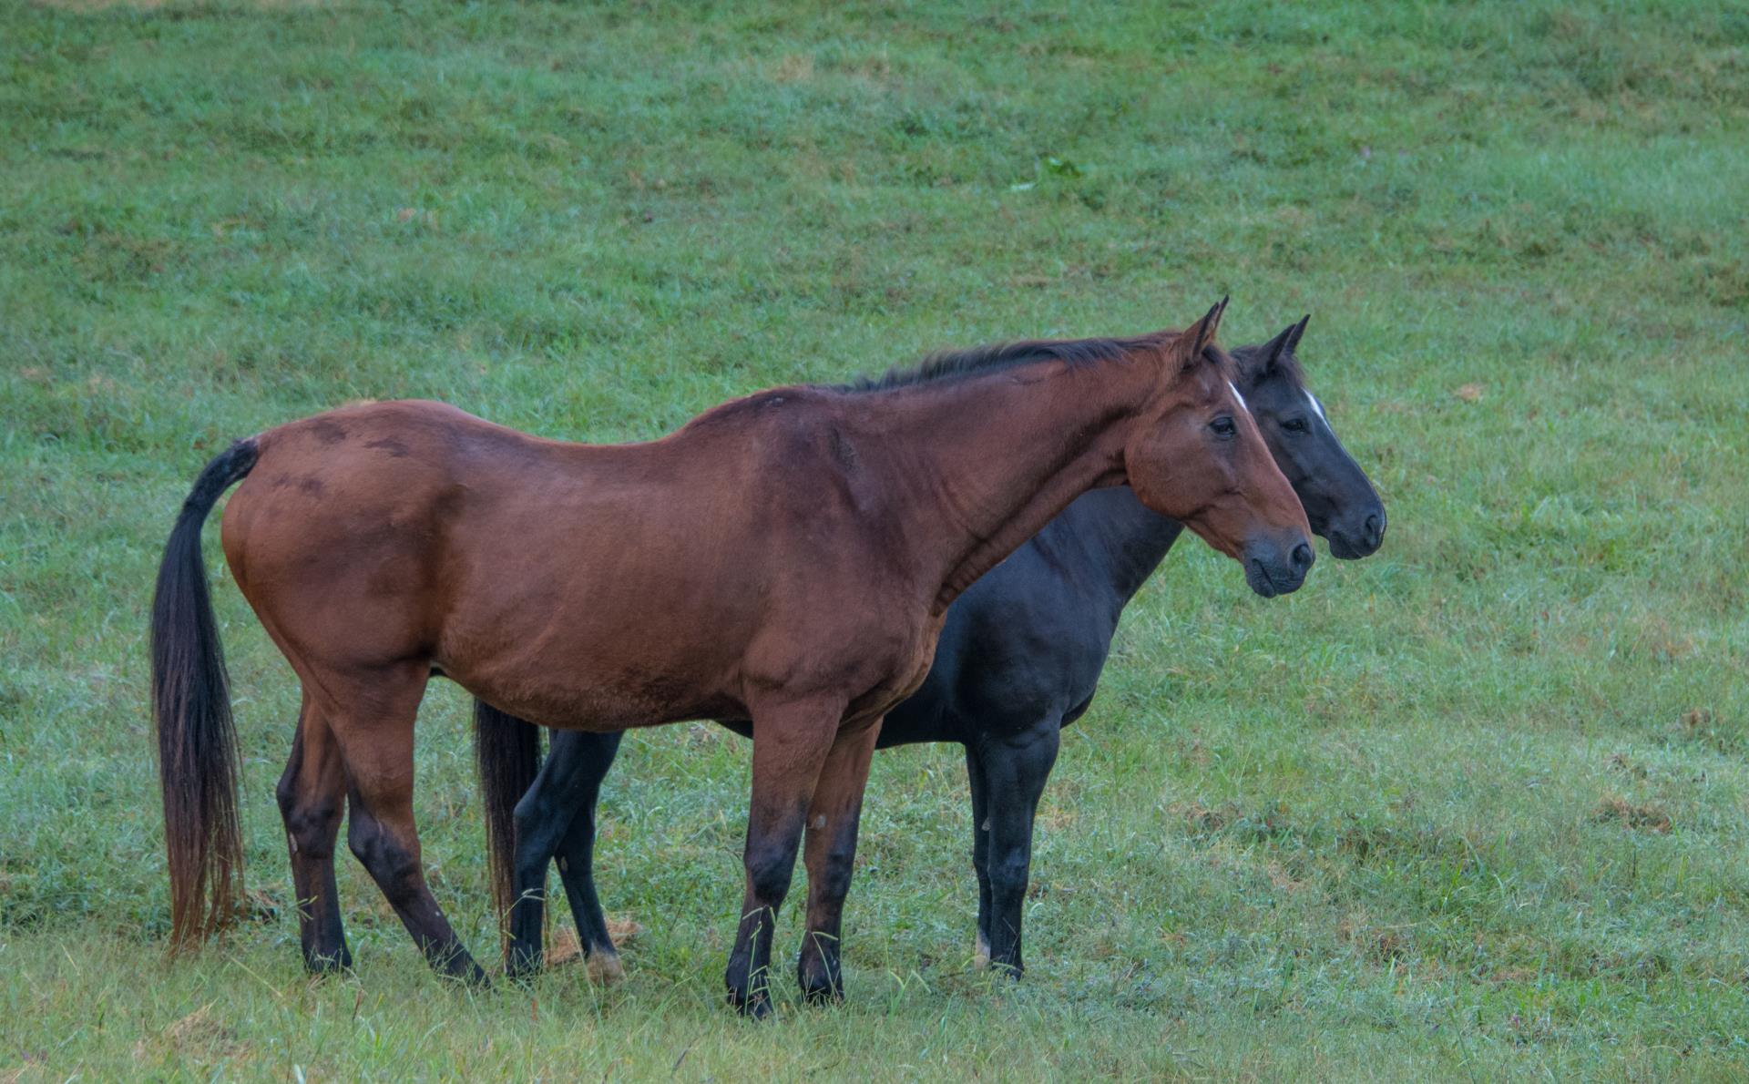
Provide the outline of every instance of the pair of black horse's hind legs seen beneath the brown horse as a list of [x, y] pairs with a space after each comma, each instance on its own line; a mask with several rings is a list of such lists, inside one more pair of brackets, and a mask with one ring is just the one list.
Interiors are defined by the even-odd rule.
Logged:
[[[577, 907], [577, 893], [570, 888], [570, 878], [579, 876], [570, 869], [574, 865], [572, 853], [575, 851], [575, 844], [570, 850], [567, 850], [567, 844], [579, 830], [579, 822], [582, 822], [582, 830], [588, 832], [584, 862], [591, 860], [588, 855], [595, 844], [593, 806], [600, 794], [602, 776], [614, 764], [619, 738], [619, 734], [588, 734], [577, 731], [553, 734], [540, 775], [535, 776], [528, 794], [516, 803], [516, 881], [511, 902], [511, 944], [504, 962], [509, 974], [519, 976], [540, 970], [547, 865], [554, 855], [560, 855], [560, 876], [565, 878], [567, 895], [572, 899], [572, 913], [577, 918], [577, 932], [589, 946], [591, 963], [595, 956], [593, 944], [596, 942], [591, 937], [593, 930], [600, 930], [598, 941], [609, 941], [607, 920], [602, 918], [600, 904], [593, 906], [593, 913], [588, 907]], [[593, 872], [588, 865], [584, 865], [581, 876], [591, 879], [588, 899], [593, 900]], [[593, 927], [589, 925], [591, 920]], [[609, 942], [609, 955], [612, 955], [612, 942]]]

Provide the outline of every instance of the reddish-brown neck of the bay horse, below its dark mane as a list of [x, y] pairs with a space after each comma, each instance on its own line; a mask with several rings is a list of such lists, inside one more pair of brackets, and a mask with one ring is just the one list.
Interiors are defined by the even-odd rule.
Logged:
[[979, 575], [1095, 486], [1125, 481], [1128, 421], [1154, 388], [1146, 360], [1041, 362], [895, 393], [881, 427], [915, 504], [916, 568], [944, 612]]

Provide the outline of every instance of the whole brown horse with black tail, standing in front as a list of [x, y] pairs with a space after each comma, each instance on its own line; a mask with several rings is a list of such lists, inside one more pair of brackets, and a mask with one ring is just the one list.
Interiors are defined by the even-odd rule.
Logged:
[[[1312, 563], [1300, 500], [1212, 344], [1184, 332], [761, 392], [647, 444], [584, 446], [434, 402], [331, 411], [208, 463], [164, 552], [152, 685], [173, 942], [222, 925], [241, 867], [234, 736], [199, 554], [303, 682], [278, 797], [304, 958], [346, 965], [334, 841], [444, 974], [484, 981], [425, 885], [413, 724], [429, 678], [547, 726], [750, 719], [731, 1000], [768, 1011], [771, 928], [808, 825], [801, 974], [827, 984], [881, 713], [922, 682], [948, 603], [1074, 497], [1128, 481], [1259, 593]], [[833, 962], [836, 963], [836, 962]], [[808, 976], [820, 983], [810, 984]]]

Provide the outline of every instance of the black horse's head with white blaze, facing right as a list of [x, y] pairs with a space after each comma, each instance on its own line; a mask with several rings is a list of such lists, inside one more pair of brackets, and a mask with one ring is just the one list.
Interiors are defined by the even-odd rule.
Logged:
[[1307, 388], [1294, 355], [1307, 320], [1261, 346], [1233, 350], [1235, 386], [1300, 495], [1312, 532], [1329, 540], [1331, 556], [1364, 558], [1385, 540], [1385, 505]]

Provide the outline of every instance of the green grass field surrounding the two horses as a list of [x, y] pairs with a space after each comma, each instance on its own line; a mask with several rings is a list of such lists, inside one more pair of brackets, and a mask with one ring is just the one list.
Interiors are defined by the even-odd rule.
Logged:
[[[1740, 1077], [1749, 10], [1198, 7], [0, 5], [0, 1081]], [[1228, 292], [1230, 343], [1313, 313], [1390, 535], [1275, 601], [1170, 558], [1046, 794], [1023, 984], [972, 967], [958, 750], [908, 748], [848, 1004], [736, 1019], [747, 747], [693, 724], [609, 782], [623, 986], [442, 986], [350, 857], [357, 972], [306, 981], [297, 691], [212, 532], [276, 911], [164, 962], [145, 612], [227, 441], [406, 395], [652, 437]], [[453, 687], [418, 757], [490, 956]]]

